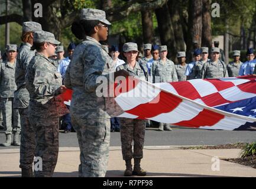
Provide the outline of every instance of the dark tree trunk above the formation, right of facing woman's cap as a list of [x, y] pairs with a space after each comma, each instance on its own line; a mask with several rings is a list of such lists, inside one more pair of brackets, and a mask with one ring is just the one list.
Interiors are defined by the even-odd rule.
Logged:
[[143, 43], [153, 43], [154, 29], [151, 11], [141, 11]]

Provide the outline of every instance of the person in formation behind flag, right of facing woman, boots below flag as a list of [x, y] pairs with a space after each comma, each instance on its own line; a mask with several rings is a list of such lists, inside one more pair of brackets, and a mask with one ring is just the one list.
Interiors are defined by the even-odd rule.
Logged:
[[[160, 60], [154, 61], [152, 66], [153, 83], [178, 82], [173, 61], [167, 59], [167, 46], [159, 47]], [[170, 124], [160, 123], [159, 131], [171, 131]]]

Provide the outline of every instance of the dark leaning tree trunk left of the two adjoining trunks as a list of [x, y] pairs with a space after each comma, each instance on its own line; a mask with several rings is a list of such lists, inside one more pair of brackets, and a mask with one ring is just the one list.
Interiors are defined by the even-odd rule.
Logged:
[[183, 28], [182, 20], [180, 19], [180, 12], [182, 11], [180, 8], [180, 1], [179, 0], [170, 0], [168, 1], [168, 9], [170, 12], [171, 22], [173, 24], [173, 32], [175, 36], [175, 43], [176, 43], [176, 51], [185, 51], [184, 45], [184, 35], [183, 35]]

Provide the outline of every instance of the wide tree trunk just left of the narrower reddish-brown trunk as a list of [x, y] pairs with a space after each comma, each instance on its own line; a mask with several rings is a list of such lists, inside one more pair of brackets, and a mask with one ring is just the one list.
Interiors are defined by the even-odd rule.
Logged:
[[189, 38], [187, 50], [193, 50], [193, 41], [198, 41], [201, 47], [202, 41], [202, 0], [189, 0]]

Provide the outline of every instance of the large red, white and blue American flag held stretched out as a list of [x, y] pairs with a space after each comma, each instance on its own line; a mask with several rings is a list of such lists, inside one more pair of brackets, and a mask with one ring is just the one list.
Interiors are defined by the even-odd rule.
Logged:
[[252, 75], [171, 83], [127, 79], [115, 87], [114, 99], [122, 110], [113, 115], [118, 117], [229, 131], [256, 127], [256, 77]]

